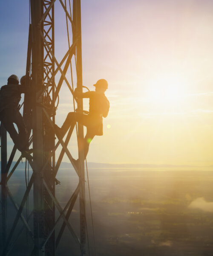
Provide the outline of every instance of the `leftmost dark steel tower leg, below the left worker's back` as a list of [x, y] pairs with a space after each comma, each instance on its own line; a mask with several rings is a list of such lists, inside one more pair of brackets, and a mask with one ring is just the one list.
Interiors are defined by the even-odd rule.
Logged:
[[7, 131], [1, 124], [1, 202], [2, 202], [2, 246], [3, 249], [7, 236]]

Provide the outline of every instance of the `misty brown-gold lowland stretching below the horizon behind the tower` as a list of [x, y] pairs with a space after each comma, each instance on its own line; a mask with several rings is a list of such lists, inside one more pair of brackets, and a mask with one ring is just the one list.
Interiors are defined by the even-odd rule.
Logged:
[[[9, 189], [20, 204], [25, 185], [25, 163], [9, 181]], [[213, 251], [213, 173], [193, 167], [122, 167], [88, 163], [95, 244], [98, 256], [211, 256]], [[56, 198], [62, 207], [78, 184], [78, 176], [62, 163], [57, 179]], [[22, 170], [21, 170], [22, 169]], [[29, 171], [30, 173], [30, 171]], [[86, 178], [86, 222], [90, 255], [95, 255]], [[31, 212], [32, 192], [29, 198]], [[78, 199], [70, 223], [78, 234]], [[8, 228], [15, 209], [8, 204]], [[23, 210], [26, 216], [26, 209]], [[56, 210], [56, 218], [58, 211]], [[56, 229], [58, 234], [60, 225]], [[32, 218], [29, 221], [32, 227]], [[28, 255], [32, 246], [26, 230], [17, 226], [17, 241], [9, 255]], [[78, 234], [79, 235], [79, 234]], [[13, 240], [15, 239], [15, 236]], [[27, 239], [25, 246], [21, 243]], [[88, 244], [87, 244], [88, 246]], [[18, 249], [18, 250], [17, 250]], [[18, 253], [17, 253], [18, 251]], [[66, 228], [56, 255], [79, 255], [79, 247]]]

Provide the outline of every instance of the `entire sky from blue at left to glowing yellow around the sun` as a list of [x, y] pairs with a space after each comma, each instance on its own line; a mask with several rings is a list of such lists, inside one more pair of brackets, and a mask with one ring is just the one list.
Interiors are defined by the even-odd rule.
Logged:
[[[107, 79], [110, 101], [104, 136], [92, 141], [88, 161], [213, 164], [213, 1], [82, 0], [81, 6], [83, 84], [92, 89]], [[60, 61], [67, 38], [59, 7]], [[1, 85], [25, 73], [28, 27], [28, 1], [0, 2]], [[64, 89], [58, 125], [71, 109]], [[69, 148], [75, 156], [74, 141]]]

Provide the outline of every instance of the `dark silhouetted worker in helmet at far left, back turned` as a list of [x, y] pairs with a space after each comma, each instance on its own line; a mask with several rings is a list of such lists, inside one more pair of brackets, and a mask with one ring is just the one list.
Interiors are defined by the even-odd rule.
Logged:
[[[0, 88], [0, 121], [9, 132], [17, 149], [22, 152], [27, 149], [28, 142], [26, 126], [18, 106], [21, 93], [25, 92], [26, 87], [19, 84], [16, 75], [10, 76], [7, 81], [7, 85]], [[18, 133], [13, 123], [17, 125]]]

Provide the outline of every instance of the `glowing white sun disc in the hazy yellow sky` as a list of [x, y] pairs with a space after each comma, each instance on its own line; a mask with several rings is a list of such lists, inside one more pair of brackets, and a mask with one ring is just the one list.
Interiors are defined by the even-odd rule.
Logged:
[[161, 105], [173, 105], [186, 95], [187, 81], [179, 76], [160, 76], [148, 84], [147, 99]]

